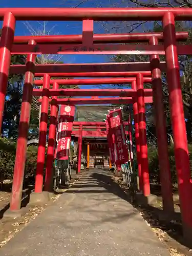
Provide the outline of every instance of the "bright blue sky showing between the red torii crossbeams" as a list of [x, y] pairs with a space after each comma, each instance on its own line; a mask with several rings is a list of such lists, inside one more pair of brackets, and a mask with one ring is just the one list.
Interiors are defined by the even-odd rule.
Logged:
[[[119, 4], [118, 0], [89, 0], [85, 1], [79, 7], [123, 7], [125, 5]], [[126, 1], [125, 1], [126, 2]], [[81, 0], [1, 0], [1, 7], [75, 7]], [[36, 31], [41, 27], [38, 22], [29, 22]], [[103, 26], [104, 25], [104, 26]], [[111, 25], [94, 23], [94, 33], [112, 33]], [[47, 30], [52, 30], [51, 34], [80, 34], [82, 33], [82, 22], [49, 22], [46, 26]], [[123, 32], [123, 31], [122, 31]], [[15, 35], [30, 35], [29, 30], [26, 28], [24, 22], [16, 22]], [[91, 62], [110, 62], [112, 56], [106, 55], [63, 55], [62, 61], [65, 63], [91, 63]], [[93, 88], [92, 86], [81, 86], [81, 88]], [[96, 86], [94, 86], [96, 88]]]

